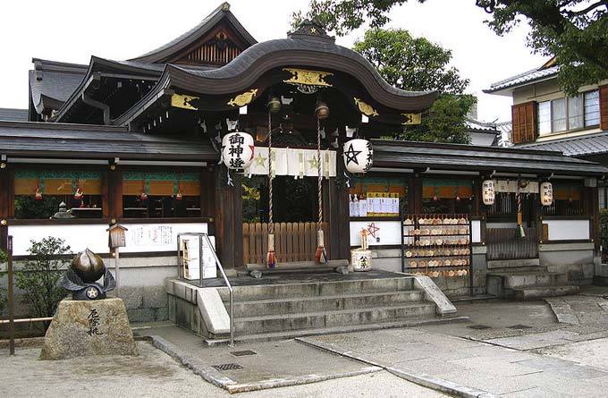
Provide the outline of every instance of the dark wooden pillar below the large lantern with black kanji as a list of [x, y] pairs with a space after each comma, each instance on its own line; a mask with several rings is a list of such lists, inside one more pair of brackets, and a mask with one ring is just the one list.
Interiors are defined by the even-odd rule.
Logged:
[[215, 249], [225, 268], [243, 267], [241, 175], [232, 174], [232, 183], [224, 167], [215, 168]]

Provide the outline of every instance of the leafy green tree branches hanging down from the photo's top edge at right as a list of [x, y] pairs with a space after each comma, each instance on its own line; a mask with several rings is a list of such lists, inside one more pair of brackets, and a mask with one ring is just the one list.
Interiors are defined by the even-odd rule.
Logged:
[[[425, 0], [418, 0], [424, 3]], [[407, 0], [311, 0], [306, 13], [293, 13], [294, 22], [317, 19], [343, 36], [368, 22], [372, 28], [390, 21], [394, 5]], [[608, 79], [608, 1], [595, 0], [476, 0], [503, 35], [522, 21], [530, 26], [528, 46], [536, 54], [556, 56], [559, 80], [569, 94], [586, 84]]]

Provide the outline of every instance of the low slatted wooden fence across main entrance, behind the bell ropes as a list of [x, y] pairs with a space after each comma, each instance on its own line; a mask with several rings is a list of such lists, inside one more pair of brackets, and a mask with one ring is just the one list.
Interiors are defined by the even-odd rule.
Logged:
[[[329, 224], [321, 224], [329, 257]], [[278, 263], [314, 261], [317, 250], [317, 223], [274, 223], [274, 252]], [[268, 251], [268, 224], [243, 224], [243, 262], [265, 264]]]

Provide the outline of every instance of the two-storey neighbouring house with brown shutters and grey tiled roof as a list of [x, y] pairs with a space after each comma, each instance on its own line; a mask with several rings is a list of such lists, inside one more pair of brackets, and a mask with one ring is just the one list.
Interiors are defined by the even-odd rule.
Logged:
[[[553, 58], [538, 69], [498, 81], [484, 90], [513, 98], [511, 142], [519, 148], [560, 151], [608, 165], [608, 80], [563, 92]], [[608, 187], [600, 187], [600, 207], [608, 207]]]

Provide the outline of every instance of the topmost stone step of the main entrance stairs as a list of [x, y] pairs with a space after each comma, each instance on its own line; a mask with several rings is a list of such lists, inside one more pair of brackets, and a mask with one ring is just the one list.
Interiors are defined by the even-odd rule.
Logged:
[[[376, 278], [346, 281], [320, 281], [298, 284], [261, 284], [235, 286], [234, 301], [251, 301], [276, 298], [334, 296], [367, 292], [395, 292], [414, 289], [414, 278]], [[219, 289], [223, 301], [228, 301], [228, 289]]]

